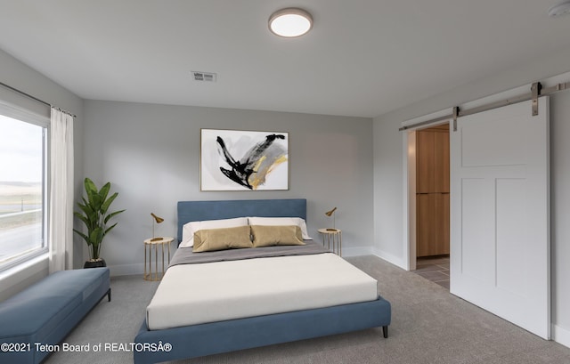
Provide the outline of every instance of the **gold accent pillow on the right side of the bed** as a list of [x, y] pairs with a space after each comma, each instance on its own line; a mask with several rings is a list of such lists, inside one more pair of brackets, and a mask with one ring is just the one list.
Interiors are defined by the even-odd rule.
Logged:
[[253, 247], [304, 246], [301, 228], [297, 225], [251, 225]]

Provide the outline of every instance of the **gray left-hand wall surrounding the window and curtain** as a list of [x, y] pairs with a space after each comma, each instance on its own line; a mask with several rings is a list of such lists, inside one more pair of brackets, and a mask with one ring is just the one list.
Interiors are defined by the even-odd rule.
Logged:
[[[78, 191], [79, 181], [83, 175], [81, 160], [83, 159], [83, 101], [74, 93], [70, 93], [61, 85], [55, 84], [49, 78], [43, 76], [34, 69], [30, 69], [20, 61], [7, 53], [0, 51], [0, 80], [20, 91], [29, 93], [40, 100], [49, 102], [61, 109], [77, 115], [74, 122], [75, 129], [75, 180]], [[3, 86], [0, 86], [0, 99], [11, 102], [20, 107], [31, 109], [37, 114], [49, 117], [50, 108], [37, 101], [32, 101], [25, 96], [20, 96]], [[74, 265], [81, 266], [83, 263], [83, 246], [74, 244]], [[26, 268], [19, 267], [17, 270], [0, 272], [0, 301], [27, 287], [29, 284], [42, 279], [48, 273], [47, 259], [36, 260], [36, 263], [28, 264]]]

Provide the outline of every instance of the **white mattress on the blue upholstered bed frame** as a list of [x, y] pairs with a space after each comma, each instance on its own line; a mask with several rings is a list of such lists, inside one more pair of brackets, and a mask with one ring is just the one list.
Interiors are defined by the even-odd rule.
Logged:
[[151, 330], [374, 301], [377, 281], [331, 253], [170, 267], [147, 307]]

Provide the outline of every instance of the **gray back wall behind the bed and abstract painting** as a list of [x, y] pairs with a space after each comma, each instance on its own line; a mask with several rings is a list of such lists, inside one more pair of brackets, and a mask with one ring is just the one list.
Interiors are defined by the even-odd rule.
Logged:
[[[84, 170], [97, 185], [110, 181], [126, 208], [105, 238], [111, 274], [143, 271], [151, 212], [165, 218], [156, 235], [175, 236], [178, 200], [307, 198], [309, 234], [330, 226], [338, 206], [346, 255], [372, 244], [372, 119], [113, 101], [85, 101]], [[199, 190], [200, 128], [289, 132], [287, 191]]]

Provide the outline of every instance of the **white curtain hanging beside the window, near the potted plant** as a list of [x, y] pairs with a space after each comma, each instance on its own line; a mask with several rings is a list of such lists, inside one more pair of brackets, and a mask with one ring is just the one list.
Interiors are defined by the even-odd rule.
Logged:
[[73, 117], [52, 108], [50, 141], [50, 273], [73, 269]]

